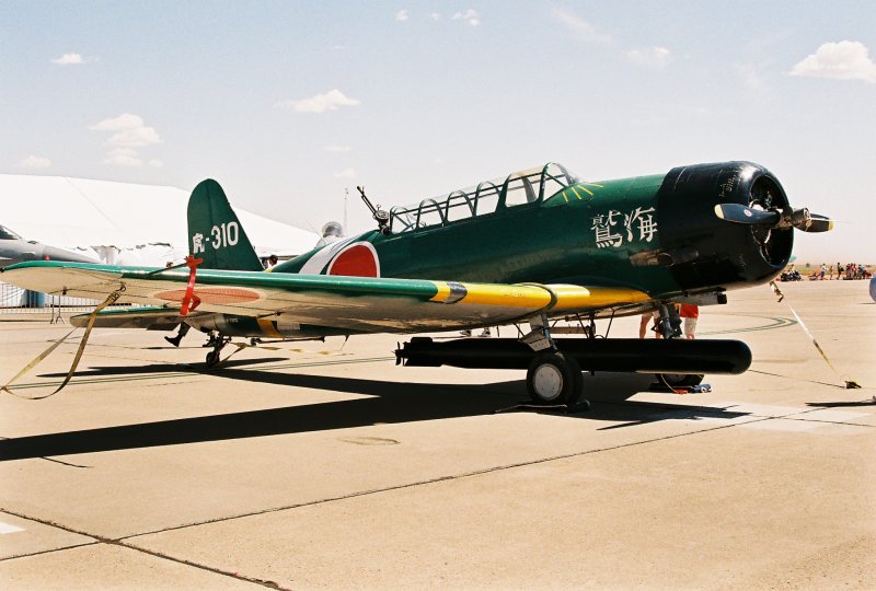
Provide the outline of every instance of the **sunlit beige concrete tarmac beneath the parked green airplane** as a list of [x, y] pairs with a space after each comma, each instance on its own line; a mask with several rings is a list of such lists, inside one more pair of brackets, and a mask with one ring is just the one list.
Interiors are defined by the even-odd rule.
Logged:
[[[59, 394], [0, 393], [0, 587], [874, 589], [876, 303], [782, 289], [701, 309], [747, 373], [588, 374], [576, 415], [497, 414], [525, 372], [395, 367], [392, 335], [208, 370], [194, 332], [95, 331]], [[0, 381], [69, 331], [0, 317]], [[79, 334], [14, 393], [51, 393]]]

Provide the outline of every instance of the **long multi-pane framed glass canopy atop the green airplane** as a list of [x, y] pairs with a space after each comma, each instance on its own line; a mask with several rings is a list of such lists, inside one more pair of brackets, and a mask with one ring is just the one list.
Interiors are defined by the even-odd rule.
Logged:
[[415, 206], [393, 207], [390, 210], [390, 229], [397, 234], [417, 228], [446, 225], [525, 204], [542, 202], [579, 182], [565, 166], [550, 162], [544, 166], [511, 173], [505, 178], [484, 181], [474, 187], [424, 199]]

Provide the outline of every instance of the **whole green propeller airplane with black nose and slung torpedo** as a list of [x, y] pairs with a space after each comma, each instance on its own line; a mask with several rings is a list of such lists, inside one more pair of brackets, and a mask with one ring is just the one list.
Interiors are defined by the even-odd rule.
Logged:
[[[679, 336], [672, 303], [726, 303], [787, 264], [794, 229], [832, 222], [791, 207], [750, 162], [584, 182], [558, 164], [382, 211], [374, 230], [264, 271], [222, 188], [207, 179], [188, 202], [187, 267], [155, 269], [33, 262], [3, 269], [27, 289], [111, 298], [143, 308], [72, 323], [209, 332], [209, 366], [232, 337], [316, 339], [364, 333], [459, 332], [517, 325], [515, 338], [413, 337], [405, 366], [519, 368], [539, 403], [581, 398], [586, 371], [654, 372], [669, 386], [741, 373], [737, 340]], [[596, 321], [658, 311], [662, 339], [598, 338]], [[573, 321], [557, 325], [558, 320]], [[577, 324], [577, 327], [576, 327]], [[557, 338], [578, 332], [583, 338]]]

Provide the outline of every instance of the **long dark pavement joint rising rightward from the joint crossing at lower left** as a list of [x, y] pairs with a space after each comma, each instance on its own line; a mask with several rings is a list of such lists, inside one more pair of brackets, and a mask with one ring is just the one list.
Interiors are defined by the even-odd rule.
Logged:
[[[746, 421], [746, 422], [744, 422], [741, 425], [751, 425], [753, 422], [773, 420], [775, 418], [781, 418], [781, 417], [756, 418], [754, 420], [749, 420], [749, 421]], [[173, 532], [173, 531], [176, 531], [176, 530], [186, 530], [186, 529], [189, 529], [189, 528], [197, 528], [197, 526], [200, 526], [200, 525], [209, 525], [209, 524], [212, 524], [212, 523], [222, 523], [222, 522], [226, 522], [226, 521], [233, 521], [233, 520], [237, 520], [237, 519], [243, 519], [243, 518], [249, 518], [249, 517], [257, 517], [257, 515], [264, 515], [264, 514], [268, 514], [268, 513], [277, 513], [277, 512], [280, 512], [280, 511], [289, 511], [289, 510], [292, 510], [292, 509], [300, 509], [302, 507], [313, 507], [313, 506], [316, 506], [316, 505], [326, 505], [326, 503], [330, 503], [330, 502], [355, 499], [355, 498], [358, 498], [358, 497], [366, 497], [366, 496], [370, 496], [370, 495], [378, 495], [378, 494], [381, 494], [381, 493], [391, 493], [391, 491], [394, 491], [394, 490], [403, 490], [403, 489], [406, 489], [406, 488], [415, 488], [415, 487], [418, 487], [418, 486], [428, 486], [428, 485], [433, 485], [433, 484], [446, 483], [446, 482], [451, 482], [451, 480], [460, 480], [460, 479], [463, 479], [463, 478], [472, 478], [472, 477], [475, 477], [475, 476], [485, 476], [487, 474], [493, 474], [493, 473], [496, 473], [496, 472], [504, 472], [504, 471], [516, 470], [516, 468], [520, 468], [520, 467], [534, 466], [534, 465], [539, 465], [539, 464], [548, 464], [548, 463], [551, 463], [551, 462], [557, 462], [560, 460], [568, 460], [568, 459], [572, 459], [572, 457], [583, 457], [585, 455], [591, 455], [591, 454], [601, 453], [601, 452], [610, 452], [610, 451], [615, 451], [615, 450], [622, 450], [622, 449], [626, 449], [626, 448], [634, 448], [634, 447], [644, 445], [644, 444], [647, 444], [647, 443], [657, 443], [657, 442], [667, 441], [667, 440], [670, 440], [670, 439], [677, 439], [677, 438], [681, 438], [681, 437], [700, 434], [700, 433], [705, 433], [705, 432], [710, 432], [710, 431], [717, 431], [717, 430], [721, 430], [721, 429], [729, 429], [731, 427], [738, 427], [738, 426], [739, 425], [737, 425], [737, 424], [718, 425], [718, 426], [714, 426], [714, 427], [710, 427], [710, 428], [698, 429], [698, 430], [694, 430], [694, 431], [687, 431], [687, 432], [683, 432], [683, 433], [675, 433], [675, 434], [659, 437], [659, 438], [655, 438], [655, 439], [646, 439], [646, 440], [643, 440], [643, 441], [634, 441], [634, 442], [631, 442], [631, 443], [622, 443], [620, 445], [612, 445], [612, 447], [608, 447], [608, 448], [599, 448], [599, 449], [593, 449], [593, 450], [585, 450], [585, 451], [580, 451], [580, 452], [566, 453], [566, 454], [561, 454], [561, 455], [553, 455], [553, 456], [549, 456], [549, 457], [540, 457], [540, 459], [530, 460], [530, 461], [527, 461], [527, 462], [516, 462], [516, 463], [512, 463], [512, 464], [504, 464], [504, 465], [498, 465], [498, 466], [491, 466], [491, 467], [475, 470], [475, 471], [471, 471], [471, 472], [463, 472], [463, 473], [460, 473], [460, 474], [448, 474], [446, 476], [437, 476], [435, 478], [427, 478], [427, 479], [424, 479], [424, 480], [416, 480], [416, 482], [413, 482], [413, 483], [405, 483], [405, 484], [393, 485], [393, 486], [388, 486], [388, 487], [382, 487], [382, 488], [371, 488], [371, 489], [367, 489], [367, 490], [357, 490], [357, 491], [354, 491], [354, 493], [349, 493], [347, 495], [338, 495], [338, 496], [335, 496], [335, 497], [326, 497], [324, 499], [316, 499], [316, 500], [312, 500], [312, 501], [298, 502], [298, 503], [283, 506], [283, 507], [272, 507], [272, 508], [268, 508], [268, 509], [261, 509], [258, 511], [249, 511], [249, 512], [245, 512], [245, 513], [238, 513], [238, 514], [234, 514], [234, 515], [227, 515], [227, 517], [221, 517], [221, 518], [208, 519], [208, 520], [193, 522], [193, 523], [184, 523], [184, 524], [181, 524], [181, 525], [173, 525], [173, 526], [170, 526], [170, 528], [162, 528], [160, 530], [153, 530], [153, 531], [149, 531], [149, 532], [141, 532], [141, 533], [137, 533], [137, 534], [125, 535], [125, 536], [119, 537], [118, 540], [119, 541], [126, 541], [126, 540], [131, 540], [131, 538], [135, 538], [135, 537], [143, 537], [143, 536], [147, 536], [147, 535], [154, 535], [154, 534], [160, 534], [160, 533]]]

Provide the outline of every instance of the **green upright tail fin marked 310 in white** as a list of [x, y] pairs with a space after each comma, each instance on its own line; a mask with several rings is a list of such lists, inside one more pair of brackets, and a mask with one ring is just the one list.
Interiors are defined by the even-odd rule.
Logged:
[[206, 269], [263, 270], [222, 187], [212, 178], [198, 183], [188, 198], [191, 254]]

